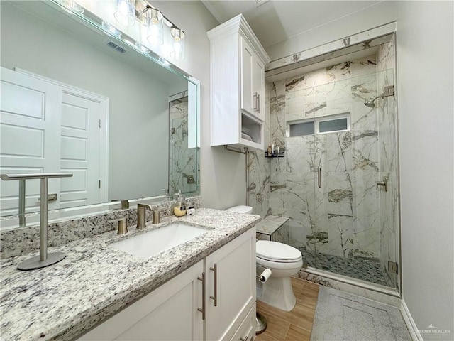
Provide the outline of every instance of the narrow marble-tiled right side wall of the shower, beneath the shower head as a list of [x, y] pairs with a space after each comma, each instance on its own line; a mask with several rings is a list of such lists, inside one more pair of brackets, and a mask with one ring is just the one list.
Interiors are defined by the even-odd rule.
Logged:
[[[377, 88], [394, 85], [395, 70], [395, 35], [387, 45], [381, 45], [377, 51], [378, 77]], [[397, 141], [397, 102], [395, 97], [386, 97], [377, 106], [380, 143], [380, 175], [389, 178], [388, 191], [380, 191], [380, 267], [392, 286], [399, 286], [399, 276], [389, 273], [388, 261], [399, 259], [399, 174]]]

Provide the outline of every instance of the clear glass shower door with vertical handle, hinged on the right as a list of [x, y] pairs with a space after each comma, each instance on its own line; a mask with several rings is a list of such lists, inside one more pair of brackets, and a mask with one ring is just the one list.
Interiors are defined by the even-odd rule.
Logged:
[[[314, 87], [316, 133], [311, 156], [314, 226], [307, 236], [315, 267], [383, 286], [396, 284], [397, 193], [377, 188], [384, 176], [396, 191], [394, 97], [382, 94], [392, 72], [349, 77]], [[394, 136], [394, 137], [393, 137]], [[311, 207], [313, 206], [313, 207]], [[388, 264], [388, 262], [390, 262]]]

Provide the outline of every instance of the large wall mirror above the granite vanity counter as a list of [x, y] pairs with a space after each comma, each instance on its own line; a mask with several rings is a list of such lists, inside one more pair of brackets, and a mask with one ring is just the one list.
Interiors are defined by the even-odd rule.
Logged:
[[[199, 193], [194, 78], [55, 2], [1, 1], [0, 13], [0, 173], [73, 173], [49, 181], [55, 217]], [[39, 186], [26, 182], [28, 215]], [[11, 229], [18, 182], [0, 190], [1, 229]]]

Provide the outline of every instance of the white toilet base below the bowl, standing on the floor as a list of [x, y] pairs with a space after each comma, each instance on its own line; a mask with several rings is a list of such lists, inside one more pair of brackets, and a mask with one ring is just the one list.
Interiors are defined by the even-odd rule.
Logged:
[[292, 310], [297, 303], [290, 277], [273, 278], [271, 276], [263, 283], [262, 295], [257, 299], [284, 311]]

